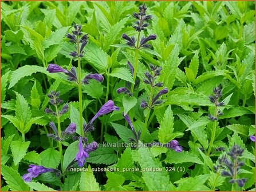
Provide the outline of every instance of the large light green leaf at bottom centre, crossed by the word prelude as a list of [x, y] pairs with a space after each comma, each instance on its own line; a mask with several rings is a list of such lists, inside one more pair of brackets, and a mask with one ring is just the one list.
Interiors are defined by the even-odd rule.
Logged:
[[142, 177], [144, 179], [145, 185], [147, 185], [149, 191], [168, 191], [170, 186], [169, 175], [163, 168], [162, 163], [158, 159], [154, 158], [152, 153], [147, 147], [140, 147], [139, 150], [139, 164], [141, 169], [150, 168], [162, 168], [163, 171], [143, 171]]

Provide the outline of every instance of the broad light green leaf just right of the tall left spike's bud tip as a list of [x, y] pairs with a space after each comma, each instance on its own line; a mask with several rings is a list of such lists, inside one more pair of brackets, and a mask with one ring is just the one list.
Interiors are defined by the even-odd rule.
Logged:
[[105, 70], [108, 66], [108, 57], [100, 47], [94, 43], [85, 46], [85, 59], [97, 69]]

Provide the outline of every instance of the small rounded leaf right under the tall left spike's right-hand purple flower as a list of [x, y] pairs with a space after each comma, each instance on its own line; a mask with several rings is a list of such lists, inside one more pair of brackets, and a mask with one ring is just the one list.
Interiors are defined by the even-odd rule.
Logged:
[[103, 95], [103, 85], [93, 80], [90, 81], [89, 84], [82, 86], [82, 90], [94, 99], [98, 99]]

